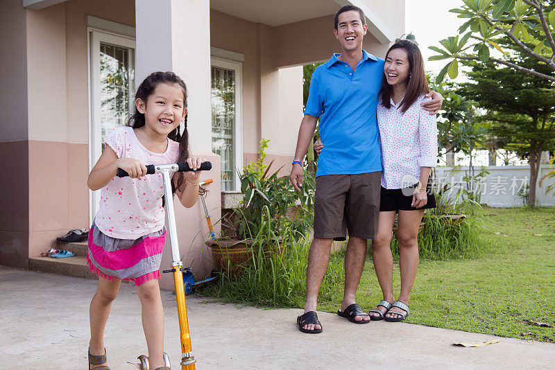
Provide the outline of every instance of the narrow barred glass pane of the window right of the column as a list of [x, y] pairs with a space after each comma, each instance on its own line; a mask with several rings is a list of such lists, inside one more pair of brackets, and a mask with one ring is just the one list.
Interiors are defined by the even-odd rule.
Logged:
[[235, 71], [212, 67], [212, 151], [221, 156], [221, 189], [234, 190]]

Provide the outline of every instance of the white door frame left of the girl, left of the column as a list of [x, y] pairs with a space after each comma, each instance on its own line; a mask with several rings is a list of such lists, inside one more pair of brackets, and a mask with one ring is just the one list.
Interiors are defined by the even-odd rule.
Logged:
[[[87, 15], [87, 66], [89, 80], [89, 172], [101, 156], [101, 91], [100, 91], [100, 44], [133, 49], [134, 62], [137, 66], [137, 48], [135, 44], [135, 28], [112, 21]], [[113, 31], [113, 32], [111, 32]], [[94, 66], [94, 67], [93, 67]], [[133, 100], [135, 91], [130, 91]], [[100, 202], [100, 190], [89, 191], [89, 223], [92, 224]]]

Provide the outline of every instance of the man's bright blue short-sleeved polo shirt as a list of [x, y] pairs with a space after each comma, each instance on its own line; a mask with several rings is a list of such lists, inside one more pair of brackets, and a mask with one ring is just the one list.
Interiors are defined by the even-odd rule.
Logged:
[[335, 53], [312, 73], [305, 114], [320, 117], [324, 143], [316, 176], [382, 170], [376, 107], [384, 60], [362, 54], [355, 71]]

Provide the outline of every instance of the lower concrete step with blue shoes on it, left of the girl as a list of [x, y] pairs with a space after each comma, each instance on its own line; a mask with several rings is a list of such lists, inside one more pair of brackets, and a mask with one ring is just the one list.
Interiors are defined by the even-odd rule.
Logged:
[[[74, 252], [72, 249], [69, 250]], [[87, 266], [84, 256], [66, 258], [29, 258], [29, 270], [96, 279], [96, 275], [89, 271], [89, 267]]]

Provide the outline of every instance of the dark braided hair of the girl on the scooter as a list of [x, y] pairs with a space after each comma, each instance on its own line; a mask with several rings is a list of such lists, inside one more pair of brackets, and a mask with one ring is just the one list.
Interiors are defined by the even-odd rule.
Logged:
[[[148, 97], [153, 94], [154, 89], [156, 89], [156, 87], [162, 83], [168, 85], [178, 85], [183, 91], [183, 109], [187, 108], [187, 86], [185, 85], [185, 82], [183, 82], [183, 80], [179, 78], [176, 73], [173, 72], [151, 73], [151, 75], [145, 78], [141, 85], [139, 85], [139, 88], [137, 89], [137, 94], [135, 94], [135, 100], [141, 99], [146, 104]], [[136, 106], [135, 113], [129, 118], [127, 125], [133, 127], [134, 129], [144, 126], [144, 114], [139, 112]], [[168, 134], [168, 137], [169, 139], [177, 141], [179, 143], [178, 162], [185, 162], [189, 157], [189, 132], [187, 131], [187, 115], [185, 116], [185, 129], [183, 130], [183, 133], [181, 134], [179, 132], [178, 126], [176, 127], [176, 130], [173, 130]], [[185, 177], [183, 173], [178, 173], [176, 181], [171, 182], [171, 193], [175, 194], [176, 189], [180, 189], [182, 191], [184, 187], [184, 182]]]

